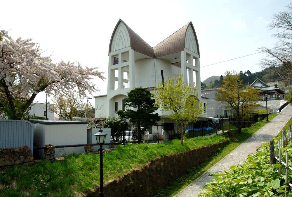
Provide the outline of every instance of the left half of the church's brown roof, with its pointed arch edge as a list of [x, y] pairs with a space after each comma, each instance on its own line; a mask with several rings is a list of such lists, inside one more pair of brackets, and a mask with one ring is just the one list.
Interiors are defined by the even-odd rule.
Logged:
[[132, 47], [133, 50], [140, 52], [142, 54], [149, 55], [151, 57], [155, 57], [153, 48], [147, 42], [145, 42], [138, 34], [136, 34], [131, 28], [129, 28], [128, 25], [124, 23], [124, 21], [121, 19], [118, 21], [112, 33], [112, 37], [109, 43], [109, 53], [110, 53], [110, 48], [112, 45], [114, 33], [117, 30], [117, 27], [119, 26], [120, 23], [123, 23], [128, 30], [128, 33], [130, 36], [130, 46]]

